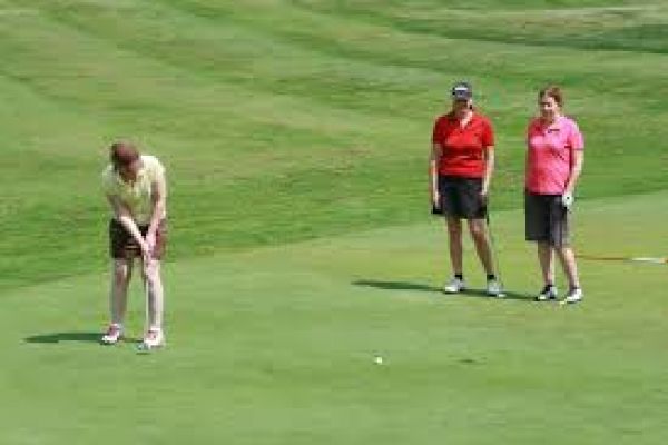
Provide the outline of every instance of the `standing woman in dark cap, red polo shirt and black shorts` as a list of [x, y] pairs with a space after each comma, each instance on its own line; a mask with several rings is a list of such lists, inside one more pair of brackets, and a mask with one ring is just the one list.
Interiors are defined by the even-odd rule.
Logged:
[[473, 109], [469, 83], [452, 88], [452, 109], [436, 119], [432, 136], [430, 188], [435, 212], [444, 215], [453, 278], [446, 294], [465, 290], [462, 261], [462, 219], [466, 219], [478, 257], [487, 273], [487, 293], [502, 296], [488, 235], [487, 201], [494, 170], [494, 132], [490, 121]]

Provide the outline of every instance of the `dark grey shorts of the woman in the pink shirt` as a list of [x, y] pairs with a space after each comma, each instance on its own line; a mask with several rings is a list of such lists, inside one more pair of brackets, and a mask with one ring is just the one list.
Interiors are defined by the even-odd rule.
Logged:
[[570, 245], [570, 211], [561, 204], [561, 195], [524, 192], [524, 219], [528, 241], [552, 247]]

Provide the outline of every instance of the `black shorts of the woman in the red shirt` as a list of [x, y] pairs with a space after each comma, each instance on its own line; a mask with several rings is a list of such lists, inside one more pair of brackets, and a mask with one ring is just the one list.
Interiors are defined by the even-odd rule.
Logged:
[[484, 219], [487, 202], [480, 196], [481, 191], [481, 178], [439, 176], [441, 212], [453, 218]]

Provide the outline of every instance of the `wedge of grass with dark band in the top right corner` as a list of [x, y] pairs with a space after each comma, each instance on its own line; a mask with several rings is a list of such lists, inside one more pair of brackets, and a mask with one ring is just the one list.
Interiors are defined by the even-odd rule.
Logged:
[[[666, 4], [645, 1], [485, 2], [299, 1], [320, 11], [355, 17], [409, 32], [450, 39], [578, 49], [666, 53]], [[514, 3], [514, 4], [513, 4]], [[481, 13], [489, 11], [492, 13]], [[446, 22], [448, 26], [443, 26]]]

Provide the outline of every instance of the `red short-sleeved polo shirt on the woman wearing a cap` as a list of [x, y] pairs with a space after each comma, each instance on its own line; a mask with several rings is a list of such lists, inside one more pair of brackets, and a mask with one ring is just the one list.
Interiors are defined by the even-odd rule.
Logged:
[[494, 146], [494, 130], [489, 119], [477, 112], [463, 128], [448, 113], [436, 119], [432, 142], [441, 149], [440, 175], [482, 178], [484, 155]]

